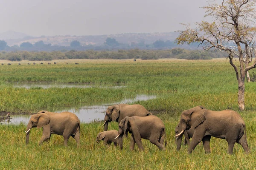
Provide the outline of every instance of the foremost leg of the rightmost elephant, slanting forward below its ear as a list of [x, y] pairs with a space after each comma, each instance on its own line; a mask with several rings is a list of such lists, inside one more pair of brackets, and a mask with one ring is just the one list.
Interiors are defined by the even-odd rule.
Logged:
[[192, 137], [192, 141], [189, 144], [189, 149], [188, 149], [189, 154], [192, 153], [192, 151], [195, 149], [196, 145], [198, 145], [198, 143], [200, 143], [203, 140], [205, 133], [206, 133], [206, 130], [202, 124], [198, 125], [198, 127], [195, 128], [195, 132]]

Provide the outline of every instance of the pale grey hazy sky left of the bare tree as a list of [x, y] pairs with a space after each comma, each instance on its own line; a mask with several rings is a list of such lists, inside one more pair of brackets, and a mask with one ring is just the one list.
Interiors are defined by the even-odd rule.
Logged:
[[170, 32], [200, 22], [207, 0], [1, 0], [0, 33], [32, 36]]

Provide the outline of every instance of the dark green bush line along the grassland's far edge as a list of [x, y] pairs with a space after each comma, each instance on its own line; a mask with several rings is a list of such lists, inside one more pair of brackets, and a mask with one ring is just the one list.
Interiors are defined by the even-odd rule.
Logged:
[[44, 61], [52, 59], [212, 59], [227, 57], [220, 51], [187, 50], [183, 48], [173, 48], [168, 50], [117, 50], [117, 51], [1, 51], [0, 59], [10, 61]]

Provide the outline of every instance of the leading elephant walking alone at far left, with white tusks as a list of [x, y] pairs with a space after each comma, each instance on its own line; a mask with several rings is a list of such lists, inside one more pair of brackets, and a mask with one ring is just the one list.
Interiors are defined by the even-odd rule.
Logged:
[[64, 137], [64, 146], [67, 146], [67, 141], [72, 136], [76, 140], [77, 147], [79, 147], [80, 121], [74, 113], [39, 111], [32, 115], [26, 127], [26, 145], [29, 143], [29, 131], [32, 127], [43, 127], [43, 136], [39, 144], [49, 141], [51, 134], [57, 134]]

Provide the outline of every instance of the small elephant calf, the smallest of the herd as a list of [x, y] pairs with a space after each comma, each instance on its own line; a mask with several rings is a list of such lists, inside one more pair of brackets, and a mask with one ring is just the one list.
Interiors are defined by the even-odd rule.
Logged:
[[108, 146], [111, 145], [113, 142], [114, 145], [116, 146], [117, 144], [119, 145], [118, 139], [115, 139], [115, 137], [118, 135], [117, 130], [108, 130], [108, 131], [103, 131], [98, 133], [96, 137], [96, 142], [99, 143], [101, 140], [104, 141], [104, 144], [108, 144]]

